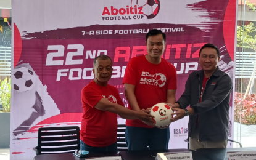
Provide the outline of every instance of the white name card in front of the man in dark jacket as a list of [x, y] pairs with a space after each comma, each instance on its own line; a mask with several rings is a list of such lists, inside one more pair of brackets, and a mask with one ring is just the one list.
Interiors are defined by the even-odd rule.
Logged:
[[229, 160], [255, 160], [256, 151], [227, 152]]

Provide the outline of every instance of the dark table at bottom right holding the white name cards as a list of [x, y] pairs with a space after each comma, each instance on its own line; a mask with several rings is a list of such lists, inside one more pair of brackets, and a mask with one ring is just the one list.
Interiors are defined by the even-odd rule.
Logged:
[[202, 148], [196, 151], [188, 149], [172, 149], [159, 151], [121, 151], [119, 154], [124, 160], [155, 160], [157, 153], [191, 151], [194, 160], [226, 160], [226, 151], [247, 151], [254, 148]]

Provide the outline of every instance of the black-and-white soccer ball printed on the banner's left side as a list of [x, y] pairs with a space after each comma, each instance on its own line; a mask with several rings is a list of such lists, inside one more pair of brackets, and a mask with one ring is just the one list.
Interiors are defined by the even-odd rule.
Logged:
[[14, 90], [25, 92], [31, 90], [35, 86], [36, 76], [31, 69], [20, 67], [14, 69]]

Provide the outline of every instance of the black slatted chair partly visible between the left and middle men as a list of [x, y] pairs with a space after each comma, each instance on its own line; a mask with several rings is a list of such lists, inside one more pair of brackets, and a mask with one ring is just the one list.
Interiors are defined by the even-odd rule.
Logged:
[[118, 124], [117, 126], [117, 151], [128, 151], [125, 141], [125, 124]]

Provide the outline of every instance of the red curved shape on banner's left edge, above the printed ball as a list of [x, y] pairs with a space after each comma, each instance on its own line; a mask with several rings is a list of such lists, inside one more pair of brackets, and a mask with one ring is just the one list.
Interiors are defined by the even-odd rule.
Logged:
[[20, 37], [20, 31], [14, 23], [14, 68], [20, 60], [20, 54], [22, 54], [22, 38]]

